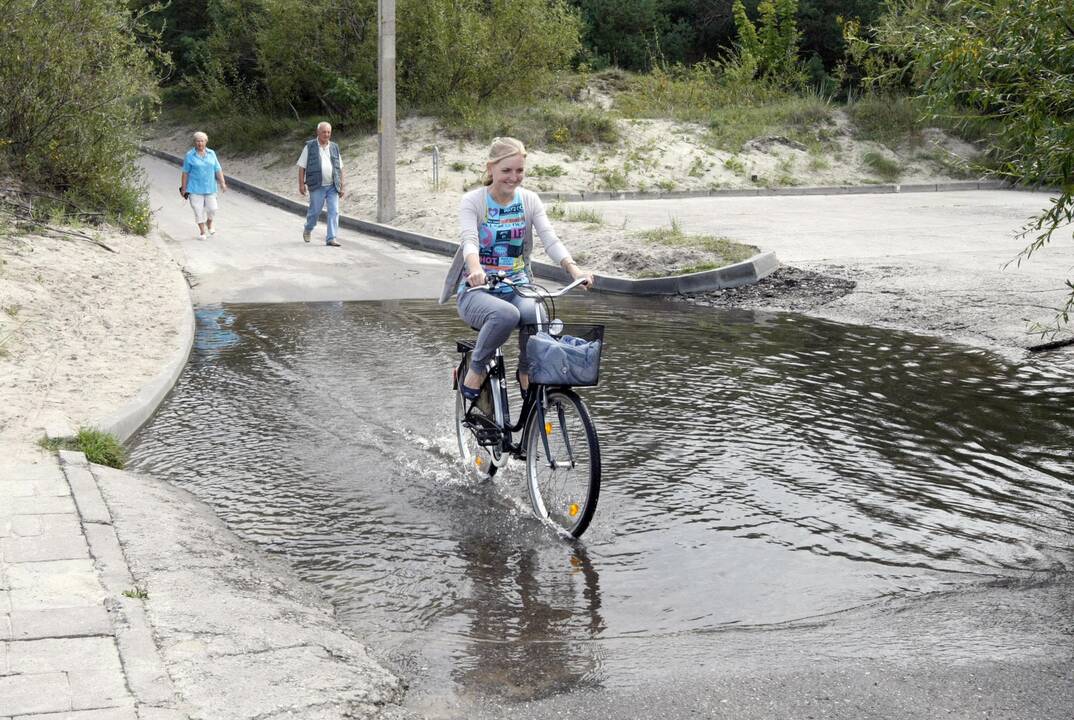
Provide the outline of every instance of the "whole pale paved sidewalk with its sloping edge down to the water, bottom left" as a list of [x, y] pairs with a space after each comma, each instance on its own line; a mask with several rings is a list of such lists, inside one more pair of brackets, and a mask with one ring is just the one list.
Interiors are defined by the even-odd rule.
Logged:
[[0, 460], [0, 720], [410, 720], [404, 691], [188, 493]]

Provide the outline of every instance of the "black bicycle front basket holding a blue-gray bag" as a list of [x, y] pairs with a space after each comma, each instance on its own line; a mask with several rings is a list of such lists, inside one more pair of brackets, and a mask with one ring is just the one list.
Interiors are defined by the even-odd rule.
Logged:
[[541, 385], [596, 385], [600, 377], [603, 325], [527, 325], [529, 379]]

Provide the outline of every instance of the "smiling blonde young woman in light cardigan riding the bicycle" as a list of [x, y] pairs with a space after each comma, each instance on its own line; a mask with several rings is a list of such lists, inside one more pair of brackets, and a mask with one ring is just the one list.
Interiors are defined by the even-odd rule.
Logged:
[[[556, 237], [545, 203], [536, 192], [522, 187], [525, 163], [526, 149], [520, 141], [496, 138], [489, 147], [484, 186], [463, 196], [459, 207], [460, 246], [445, 280], [440, 302], [458, 293], [459, 316], [479, 331], [461, 386], [468, 400], [477, 399], [489, 359], [496, 349], [507, 342], [512, 330], [533, 322], [536, 317], [536, 301], [521, 297], [511, 287], [511, 284], [526, 284], [532, 279], [529, 256], [534, 231], [554, 262], [574, 279], [584, 278], [584, 287], [593, 284], [593, 275], [575, 263]], [[511, 284], [500, 284], [489, 291], [460, 291], [466, 285], [484, 285], [485, 273], [500, 272]], [[524, 391], [528, 386], [528, 364], [523, 333], [519, 335], [518, 377]]]

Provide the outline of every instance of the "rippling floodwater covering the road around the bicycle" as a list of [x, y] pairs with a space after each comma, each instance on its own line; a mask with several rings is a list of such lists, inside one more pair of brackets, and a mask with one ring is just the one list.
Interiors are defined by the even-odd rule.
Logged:
[[532, 519], [521, 466], [458, 465], [468, 331], [431, 302], [200, 308], [132, 469], [323, 588], [431, 717], [643, 717], [639, 686], [773, 659], [1072, 657], [1074, 363], [796, 315], [564, 315], [607, 325], [578, 546]]

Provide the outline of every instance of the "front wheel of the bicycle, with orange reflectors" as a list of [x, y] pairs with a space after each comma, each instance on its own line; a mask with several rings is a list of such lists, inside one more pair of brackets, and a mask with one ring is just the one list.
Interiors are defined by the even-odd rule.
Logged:
[[[526, 477], [534, 514], [579, 537], [600, 493], [600, 446], [593, 419], [571, 390], [549, 390], [545, 426], [535, 407], [526, 423]], [[546, 444], [546, 438], [548, 443]]]

